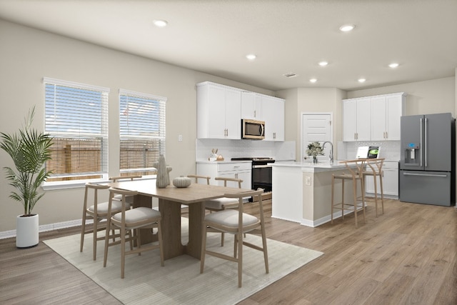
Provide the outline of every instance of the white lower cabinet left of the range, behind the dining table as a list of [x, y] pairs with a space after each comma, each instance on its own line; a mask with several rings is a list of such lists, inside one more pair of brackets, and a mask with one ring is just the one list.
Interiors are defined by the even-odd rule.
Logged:
[[[251, 189], [251, 161], [248, 162], [197, 162], [197, 174], [210, 176], [210, 184], [224, 186], [224, 181], [216, 181], [216, 177], [229, 177], [241, 179], [242, 189]], [[227, 186], [238, 187], [238, 184], [230, 184]]]

